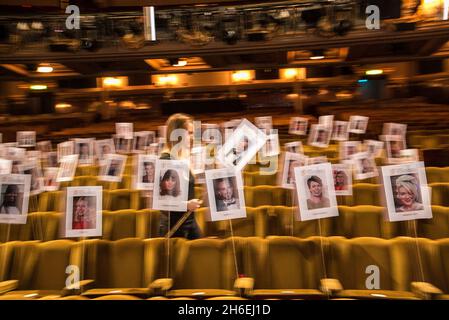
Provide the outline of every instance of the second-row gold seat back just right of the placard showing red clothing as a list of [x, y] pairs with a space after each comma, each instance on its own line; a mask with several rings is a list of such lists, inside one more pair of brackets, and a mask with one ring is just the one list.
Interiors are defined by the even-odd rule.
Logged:
[[103, 239], [136, 237], [136, 210], [103, 211]]

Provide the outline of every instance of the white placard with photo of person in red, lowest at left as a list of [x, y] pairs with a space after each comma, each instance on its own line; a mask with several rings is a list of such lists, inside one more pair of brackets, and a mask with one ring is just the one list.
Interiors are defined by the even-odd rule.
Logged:
[[68, 187], [65, 237], [98, 237], [102, 233], [103, 187]]

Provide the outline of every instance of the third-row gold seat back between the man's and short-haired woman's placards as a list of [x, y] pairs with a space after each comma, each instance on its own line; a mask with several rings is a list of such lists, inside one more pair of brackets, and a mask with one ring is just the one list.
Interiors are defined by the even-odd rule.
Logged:
[[247, 207], [290, 206], [294, 198], [294, 190], [274, 186], [245, 187], [244, 192]]

